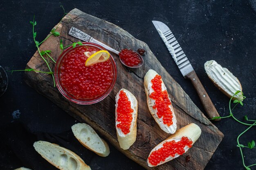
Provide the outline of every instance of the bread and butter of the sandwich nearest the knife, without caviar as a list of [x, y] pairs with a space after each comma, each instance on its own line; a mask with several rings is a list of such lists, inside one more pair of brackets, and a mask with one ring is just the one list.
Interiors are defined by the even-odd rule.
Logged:
[[[148, 110], [150, 111], [151, 115], [153, 116], [153, 118], [155, 119], [155, 121], [157, 122], [157, 124], [159, 125], [159, 127], [164, 130], [166, 133], [175, 133], [175, 131], [177, 130], [177, 119], [174, 113], [174, 109], [173, 109], [173, 105], [171, 104], [171, 111], [173, 113], [173, 124], [170, 126], [172, 127], [172, 129], [168, 129], [166, 128], [167, 125], [165, 125], [163, 122], [161, 122], [159, 120], [159, 118], [157, 117], [157, 115], [155, 114], [155, 110], [153, 109], [153, 106], [151, 106], [152, 104], [150, 103], [151, 98], [149, 97], [150, 92], [148, 90], [148, 86], [151, 82], [151, 80], [155, 77], [155, 75], [159, 75], [156, 71], [150, 69], [148, 70], [148, 72], [146, 73], [145, 77], [144, 77], [144, 88], [145, 88], [145, 93], [146, 93], [146, 97], [147, 97], [147, 104], [148, 104]], [[164, 81], [161, 78], [162, 84], [165, 87]], [[168, 95], [169, 97], [169, 95]], [[170, 98], [169, 98], [170, 99]], [[170, 99], [171, 101], [171, 99]]]

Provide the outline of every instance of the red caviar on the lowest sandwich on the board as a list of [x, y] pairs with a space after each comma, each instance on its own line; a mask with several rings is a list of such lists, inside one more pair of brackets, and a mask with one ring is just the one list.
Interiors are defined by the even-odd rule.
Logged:
[[192, 147], [193, 141], [190, 141], [187, 137], [182, 137], [180, 141], [166, 141], [161, 148], [153, 151], [148, 161], [151, 165], [157, 166], [160, 161], [165, 161], [168, 157], [174, 157], [175, 154], [183, 155], [185, 153], [184, 147]]

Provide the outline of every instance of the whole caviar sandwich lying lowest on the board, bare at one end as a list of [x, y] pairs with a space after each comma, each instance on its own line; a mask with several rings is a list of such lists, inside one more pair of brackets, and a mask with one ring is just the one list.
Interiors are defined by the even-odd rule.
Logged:
[[201, 129], [196, 124], [188, 124], [180, 128], [151, 150], [148, 156], [148, 166], [159, 166], [183, 155], [201, 135]]

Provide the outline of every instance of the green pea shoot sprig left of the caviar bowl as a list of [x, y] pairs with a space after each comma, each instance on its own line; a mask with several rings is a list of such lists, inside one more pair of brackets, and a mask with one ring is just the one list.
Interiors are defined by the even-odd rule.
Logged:
[[[64, 11], [64, 14], [62, 16], [62, 18], [63, 18], [67, 13], [65, 12], [65, 9], [62, 5], [61, 5], [61, 7]], [[62, 20], [62, 18], [61, 18], [61, 20]], [[36, 48], [38, 50], [38, 53], [39, 53], [40, 57], [43, 59], [43, 61], [46, 63], [49, 71], [38, 71], [38, 70], [35, 70], [34, 68], [27, 68], [25, 70], [12, 70], [11, 73], [13, 73], [13, 71], [35, 71], [35, 72], [38, 72], [38, 73], [46, 73], [46, 74], [52, 75], [53, 84], [54, 84], [54, 87], [55, 87], [56, 84], [55, 84], [55, 79], [54, 79], [54, 72], [52, 71], [49, 64], [51, 64], [50, 60], [52, 60], [52, 62], [54, 62], [54, 64], [56, 63], [56, 61], [50, 55], [51, 52], [52, 52], [51, 50], [40, 51], [39, 46], [40, 46], [40, 44], [45, 42], [45, 40], [47, 40], [50, 36], [54, 35], [55, 37], [58, 37], [58, 36], [61, 35], [58, 31], [56, 31], [56, 29], [58, 28], [61, 21], [58, 22], [58, 25], [50, 31], [50, 34], [42, 42], [38, 42], [36, 40], [37, 32], [35, 32], [35, 26], [36, 26], [37, 22], [35, 21], [35, 15], [34, 15], [33, 21], [29, 21], [29, 23], [33, 26], [33, 40], [36, 44]]]

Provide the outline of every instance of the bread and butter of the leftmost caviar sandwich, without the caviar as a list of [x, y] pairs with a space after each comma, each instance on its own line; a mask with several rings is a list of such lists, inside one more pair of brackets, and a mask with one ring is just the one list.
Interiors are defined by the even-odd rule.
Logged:
[[[128, 134], [124, 135], [124, 137], [121, 137], [119, 135], [120, 130], [118, 130], [118, 128], [117, 128], [117, 106], [118, 106], [117, 97], [119, 96], [120, 91], [124, 91], [126, 94], [128, 93], [130, 95], [130, 97], [132, 97], [132, 99], [135, 101], [135, 110], [134, 110], [134, 113], [133, 113], [135, 115], [133, 116], [133, 119], [132, 119], [133, 124], [131, 124], [132, 127], [130, 127], [130, 132]], [[138, 102], [137, 102], [136, 97], [132, 93], [130, 93], [130, 91], [126, 90], [125, 88], [122, 88], [120, 91], [116, 95], [116, 108], [115, 108], [116, 125], [115, 126], [116, 126], [117, 140], [119, 142], [119, 145], [122, 149], [127, 150], [136, 141]], [[130, 101], [130, 102], [132, 102], [132, 101]]]

